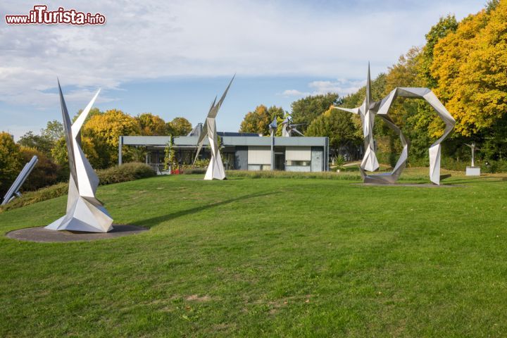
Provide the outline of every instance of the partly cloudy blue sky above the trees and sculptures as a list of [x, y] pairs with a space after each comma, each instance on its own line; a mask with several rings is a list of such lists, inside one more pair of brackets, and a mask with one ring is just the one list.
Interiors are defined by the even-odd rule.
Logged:
[[[40, 1], [37, 2], [39, 4]], [[104, 26], [6, 25], [34, 2], [0, 4], [0, 130], [16, 139], [60, 120], [56, 77], [71, 113], [99, 87], [101, 110], [204, 119], [237, 73], [217, 119], [238, 130], [258, 104], [355, 92], [385, 72], [439, 17], [461, 19], [482, 1], [46, 1], [106, 15]]]

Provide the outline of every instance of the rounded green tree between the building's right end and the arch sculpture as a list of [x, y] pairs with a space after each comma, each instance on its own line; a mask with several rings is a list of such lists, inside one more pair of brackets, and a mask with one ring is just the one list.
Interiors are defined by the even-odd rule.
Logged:
[[351, 114], [332, 108], [312, 121], [306, 130], [306, 136], [329, 137], [330, 148], [335, 154], [338, 154], [339, 149], [346, 144], [361, 142]]

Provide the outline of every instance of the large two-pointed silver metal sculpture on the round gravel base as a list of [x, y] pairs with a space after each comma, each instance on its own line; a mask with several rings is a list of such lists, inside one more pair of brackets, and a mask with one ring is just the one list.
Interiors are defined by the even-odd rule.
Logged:
[[60, 91], [60, 104], [63, 115], [63, 128], [65, 130], [65, 142], [70, 167], [70, 180], [67, 199], [67, 214], [62, 218], [46, 226], [51, 230], [70, 230], [82, 232], [108, 232], [113, 229], [113, 218], [108, 214], [101, 201], [96, 199], [95, 192], [99, 185], [99, 177], [96, 176], [92, 165], [81, 149], [80, 129], [92, 108], [100, 89], [96, 92], [92, 101], [84, 108], [77, 120], [70, 125], [70, 118], [63, 99], [63, 94], [58, 81]]

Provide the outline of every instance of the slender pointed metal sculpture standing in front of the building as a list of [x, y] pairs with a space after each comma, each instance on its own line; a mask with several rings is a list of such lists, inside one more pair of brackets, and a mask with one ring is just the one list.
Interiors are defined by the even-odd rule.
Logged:
[[222, 97], [220, 98], [220, 101], [216, 102], [215, 97], [215, 101], [213, 101], [213, 103], [211, 104], [211, 107], [208, 111], [208, 116], [204, 121], [204, 127], [202, 129], [201, 134], [199, 135], [199, 140], [197, 141], [198, 149], [196, 157], [194, 159], [194, 163], [195, 161], [197, 161], [199, 152], [202, 149], [206, 137], [208, 137], [208, 142], [211, 148], [210, 163], [208, 165], [208, 170], [206, 170], [206, 175], [204, 175], [204, 180], [225, 179], [225, 170], [223, 168], [222, 156], [220, 156], [220, 149], [218, 149], [218, 136], [216, 133], [215, 118], [218, 113], [218, 109], [220, 109], [220, 106], [222, 106], [222, 103], [225, 99], [225, 95], [227, 95], [227, 91], [229, 90], [230, 85], [232, 84], [232, 80], [234, 80], [234, 76], [230, 80], [229, 85], [225, 89], [225, 92], [223, 93]]

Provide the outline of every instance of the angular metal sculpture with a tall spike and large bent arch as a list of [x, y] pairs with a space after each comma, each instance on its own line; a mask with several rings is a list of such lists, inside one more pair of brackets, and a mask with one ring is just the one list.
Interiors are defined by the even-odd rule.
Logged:
[[[370, 65], [368, 64], [368, 80], [366, 82], [366, 98], [358, 108], [339, 108], [334, 107], [342, 111], [348, 111], [349, 113], [355, 113], [360, 115], [361, 123], [363, 125], [363, 136], [365, 138], [365, 154], [363, 161], [361, 162], [361, 175], [365, 183], [394, 183], [398, 180], [399, 175], [405, 168], [406, 161], [408, 158], [408, 140], [401, 132], [400, 128], [397, 127], [393, 120], [389, 118], [388, 112], [391, 108], [394, 99], [396, 97], [406, 97], [411, 99], [425, 99], [430, 106], [437, 112], [446, 125], [444, 134], [442, 137], [437, 139], [430, 146], [430, 180], [434, 184], [440, 184], [440, 144], [447, 135], [453, 130], [456, 121], [453, 119], [449, 111], [444, 105], [437, 99], [437, 96], [433, 94], [430, 89], [427, 88], [415, 88], [415, 87], [399, 87], [392, 90], [382, 101], [373, 101], [371, 96], [371, 80], [370, 80]], [[377, 156], [375, 156], [375, 144], [373, 141], [373, 125], [375, 123], [375, 115], [382, 118], [387, 125], [399, 135], [403, 150], [401, 155], [394, 166], [391, 173], [371, 175], [366, 174], [366, 171], [375, 171], [379, 168]]]

